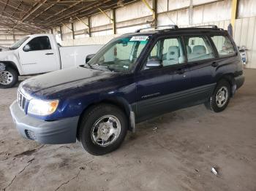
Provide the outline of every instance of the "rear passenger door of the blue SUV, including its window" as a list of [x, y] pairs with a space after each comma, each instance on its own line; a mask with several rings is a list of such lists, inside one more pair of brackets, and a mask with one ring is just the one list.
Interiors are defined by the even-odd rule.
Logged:
[[184, 36], [184, 44], [191, 77], [190, 101], [192, 105], [200, 104], [206, 101], [216, 85], [217, 55], [207, 35]]

